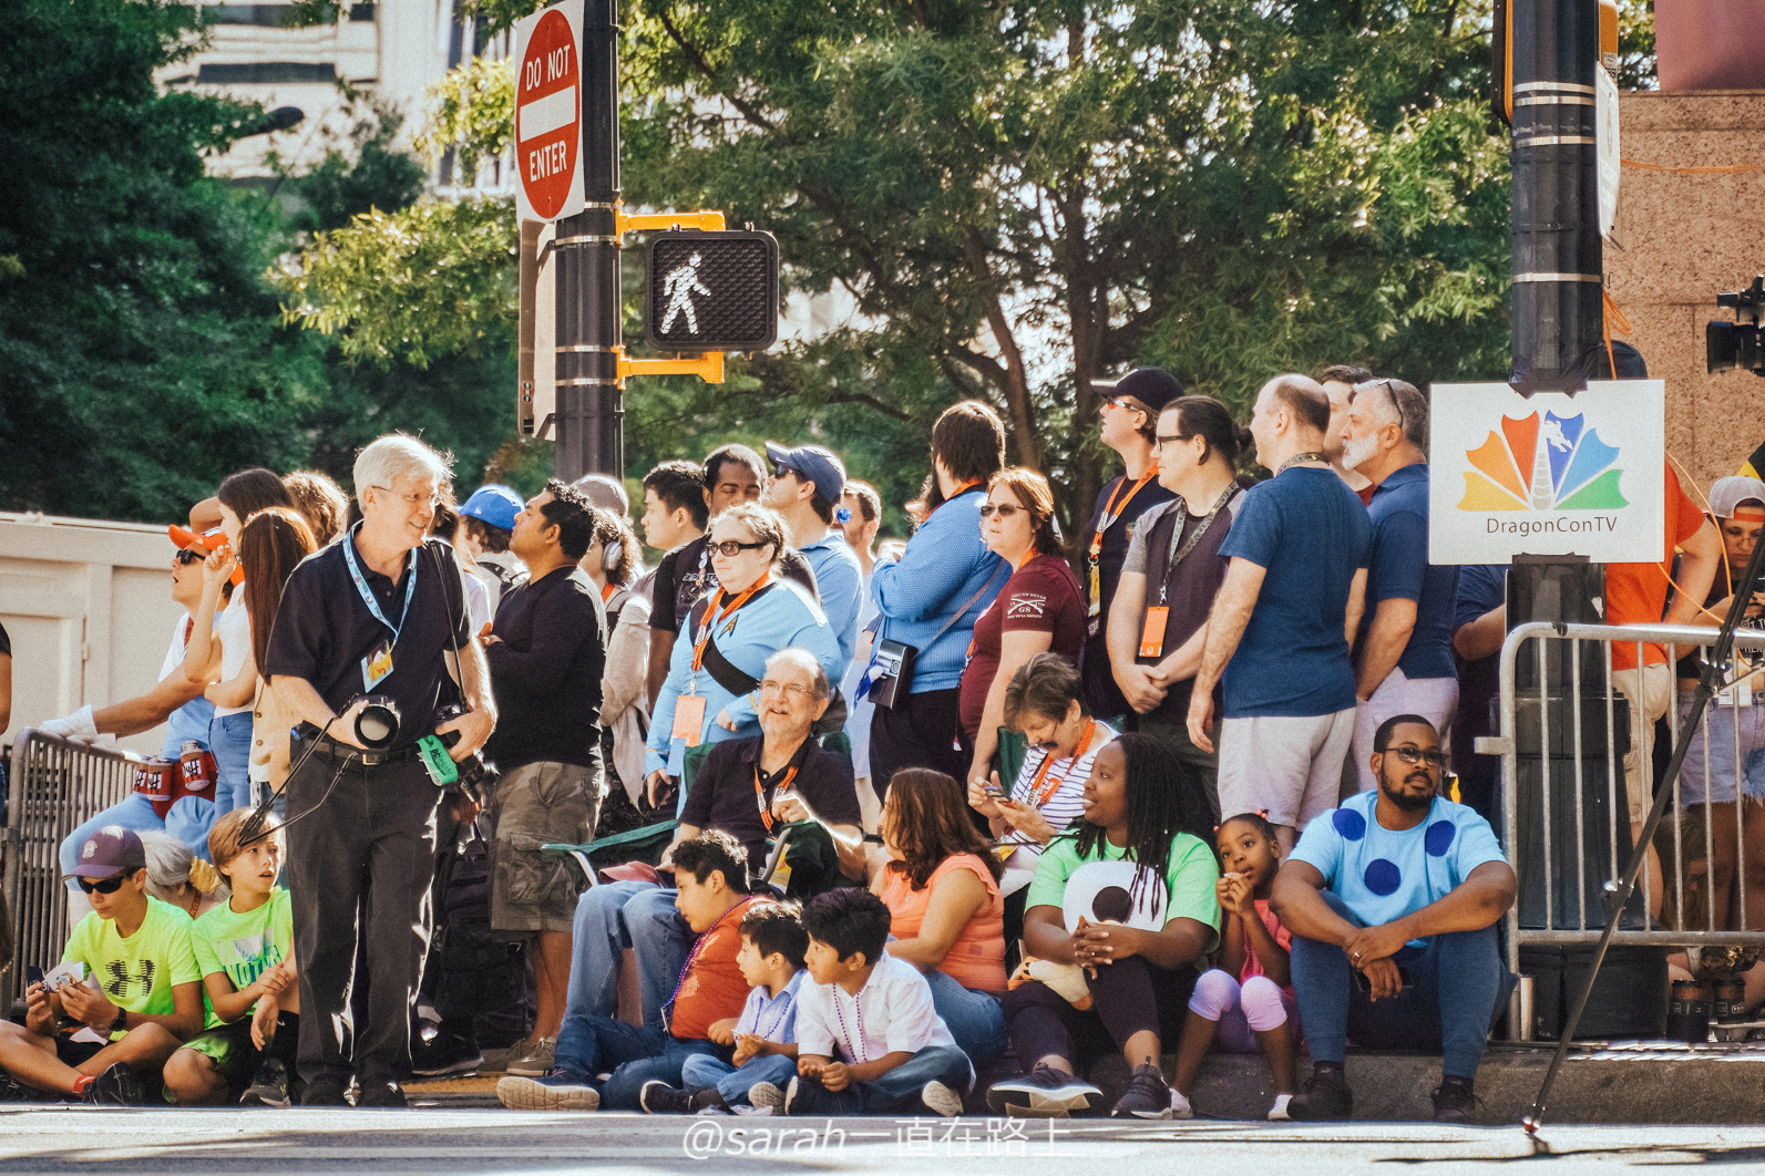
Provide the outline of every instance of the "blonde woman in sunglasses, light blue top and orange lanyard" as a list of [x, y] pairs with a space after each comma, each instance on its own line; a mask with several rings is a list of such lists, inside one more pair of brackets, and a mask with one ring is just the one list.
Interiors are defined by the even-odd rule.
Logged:
[[[826, 614], [778, 575], [789, 547], [777, 511], [757, 502], [731, 506], [711, 524], [706, 550], [717, 589], [687, 615], [650, 723], [644, 770], [651, 804], [669, 778], [680, 778], [687, 748], [759, 735], [754, 691], [768, 656], [800, 645], [830, 677], [842, 665]], [[824, 721], [833, 723], [830, 730], [845, 721], [840, 700]]]

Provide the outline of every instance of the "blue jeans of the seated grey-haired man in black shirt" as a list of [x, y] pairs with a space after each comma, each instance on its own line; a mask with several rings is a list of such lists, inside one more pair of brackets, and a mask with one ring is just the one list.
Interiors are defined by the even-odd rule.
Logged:
[[588, 1017], [620, 1010], [620, 959], [632, 949], [644, 1024], [662, 1024], [662, 1005], [674, 994], [694, 933], [678, 910], [676, 890], [653, 882], [604, 882], [575, 901], [570, 987], [565, 1009]]

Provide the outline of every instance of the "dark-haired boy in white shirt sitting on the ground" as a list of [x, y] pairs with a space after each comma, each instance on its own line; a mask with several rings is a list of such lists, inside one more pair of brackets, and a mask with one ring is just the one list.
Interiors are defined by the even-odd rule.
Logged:
[[913, 964], [884, 954], [890, 910], [875, 894], [830, 890], [803, 910], [810, 984], [798, 994], [798, 1077], [785, 1114], [962, 1114], [969, 1056], [932, 1009]]

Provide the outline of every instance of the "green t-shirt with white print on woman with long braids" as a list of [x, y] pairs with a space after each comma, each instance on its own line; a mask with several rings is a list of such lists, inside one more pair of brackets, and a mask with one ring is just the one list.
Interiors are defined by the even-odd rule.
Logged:
[[1170, 867], [1160, 883], [1153, 871], [1126, 860], [1126, 848], [1098, 839], [1091, 857], [1078, 855], [1078, 834], [1057, 836], [1036, 860], [1036, 878], [1029, 883], [1029, 906], [1059, 906], [1071, 931], [1084, 915], [1087, 922], [1123, 922], [1160, 931], [1172, 919], [1193, 919], [1220, 938], [1220, 899], [1214, 883], [1220, 866], [1213, 850], [1191, 834], [1179, 832], [1170, 843]]

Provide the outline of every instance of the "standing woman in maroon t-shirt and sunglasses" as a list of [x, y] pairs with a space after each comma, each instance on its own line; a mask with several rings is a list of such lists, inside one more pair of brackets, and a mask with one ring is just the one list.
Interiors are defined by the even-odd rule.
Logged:
[[967, 778], [985, 785], [999, 749], [1006, 684], [1040, 652], [1078, 661], [1085, 599], [1061, 552], [1048, 480], [1036, 471], [1013, 465], [992, 476], [981, 506], [981, 543], [1011, 564], [1011, 578], [974, 622], [962, 670], [962, 732], [974, 744]]

